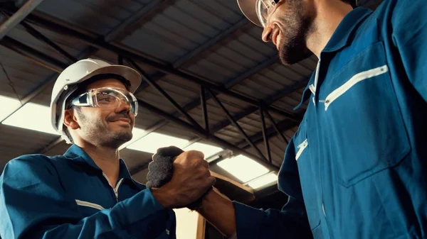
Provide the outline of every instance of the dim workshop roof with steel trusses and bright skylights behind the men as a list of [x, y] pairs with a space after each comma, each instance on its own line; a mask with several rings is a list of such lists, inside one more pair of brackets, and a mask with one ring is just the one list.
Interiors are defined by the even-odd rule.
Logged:
[[[305, 112], [293, 107], [317, 59], [281, 65], [261, 32], [236, 0], [0, 0], [1, 171], [19, 155], [68, 149], [50, 123], [53, 83], [92, 57], [143, 76], [134, 138], [120, 151], [137, 181], [157, 148], [201, 150], [223, 194], [280, 209], [278, 169]], [[182, 210], [178, 238], [221, 238]]]

